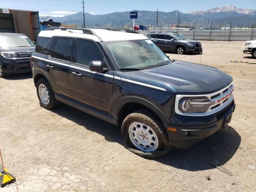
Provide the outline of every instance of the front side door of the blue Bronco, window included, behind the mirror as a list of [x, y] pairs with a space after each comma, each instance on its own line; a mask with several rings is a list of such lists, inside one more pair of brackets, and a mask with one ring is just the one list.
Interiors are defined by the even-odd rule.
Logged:
[[[73, 62], [70, 65], [70, 86], [74, 106], [100, 110], [110, 116], [113, 92], [113, 70], [106, 73], [91, 72], [89, 63], [101, 61], [104, 68], [109, 68], [98, 44], [91, 40], [77, 39], [74, 46]], [[80, 106], [78, 106], [80, 107]], [[91, 110], [91, 109], [90, 109]], [[91, 112], [90, 112], [91, 113]], [[103, 118], [103, 117], [102, 117]]]

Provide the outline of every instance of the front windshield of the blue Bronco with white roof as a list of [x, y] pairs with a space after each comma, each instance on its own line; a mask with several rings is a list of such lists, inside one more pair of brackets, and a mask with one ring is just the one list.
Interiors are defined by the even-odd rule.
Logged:
[[170, 64], [170, 59], [151, 40], [111, 41], [102, 44], [121, 69], [146, 69]]

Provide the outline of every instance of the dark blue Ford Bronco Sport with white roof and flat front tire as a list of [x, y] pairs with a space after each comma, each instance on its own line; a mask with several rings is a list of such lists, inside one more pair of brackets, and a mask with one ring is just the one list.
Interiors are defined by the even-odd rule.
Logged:
[[42, 31], [31, 66], [41, 106], [63, 102], [120, 126], [125, 146], [141, 156], [192, 146], [225, 128], [235, 108], [231, 76], [170, 60], [141, 34]]

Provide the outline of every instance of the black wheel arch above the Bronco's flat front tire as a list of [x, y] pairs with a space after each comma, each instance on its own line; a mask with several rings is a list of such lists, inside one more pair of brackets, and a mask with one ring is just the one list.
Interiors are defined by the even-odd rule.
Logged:
[[153, 103], [149, 102], [146, 99], [129, 96], [119, 100], [114, 106], [114, 115], [116, 115], [118, 126], [122, 125], [122, 122], [126, 116], [136, 110], [147, 109], [156, 115], [161, 122], [169, 122], [165, 114]]

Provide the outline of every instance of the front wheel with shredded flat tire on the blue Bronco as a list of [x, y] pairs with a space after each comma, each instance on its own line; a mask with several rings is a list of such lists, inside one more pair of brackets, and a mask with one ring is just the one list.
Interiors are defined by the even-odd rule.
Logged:
[[124, 119], [122, 138], [126, 148], [144, 157], [161, 156], [172, 148], [164, 126], [147, 110], [135, 111]]

